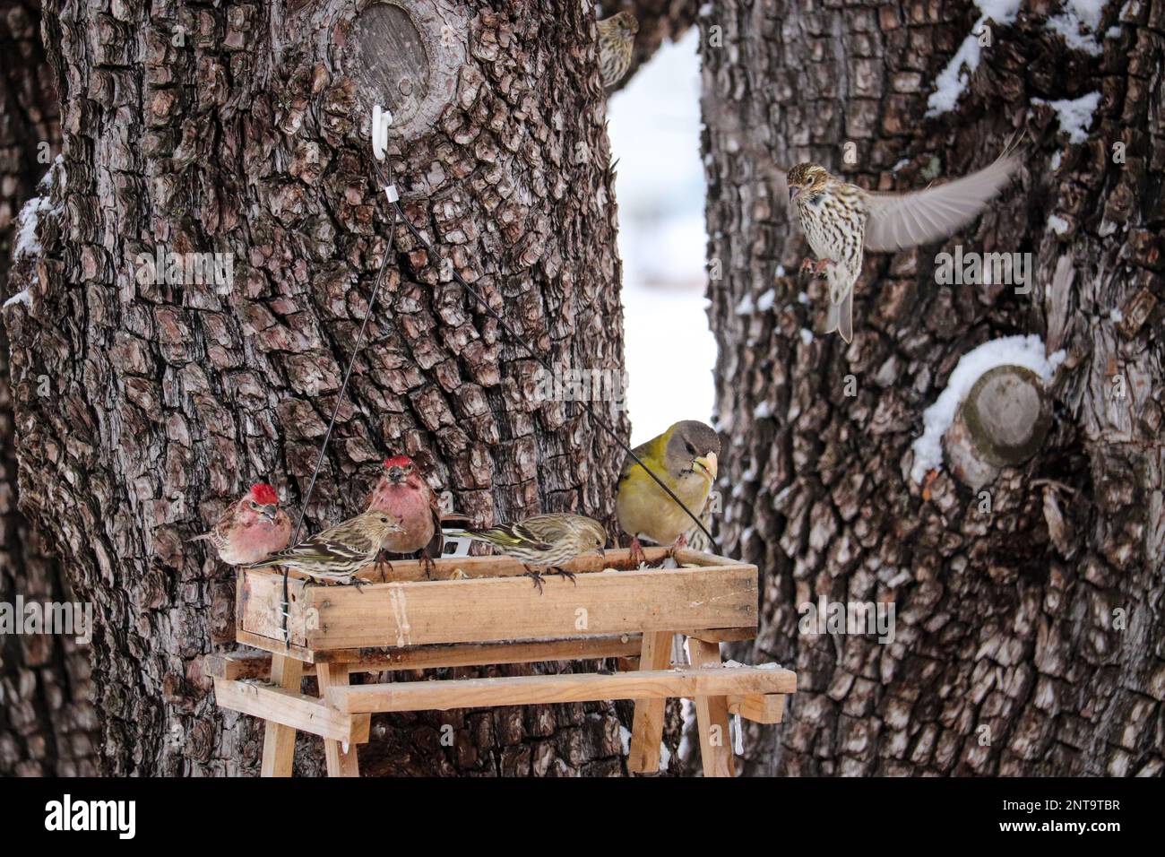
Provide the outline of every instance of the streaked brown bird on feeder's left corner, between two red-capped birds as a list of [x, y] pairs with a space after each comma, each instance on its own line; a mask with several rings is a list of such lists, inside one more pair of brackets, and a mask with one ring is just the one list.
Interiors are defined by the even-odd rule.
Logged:
[[354, 583], [356, 571], [376, 559], [384, 539], [401, 529], [387, 512], [370, 510], [247, 568], [277, 566], [316, 581]]

